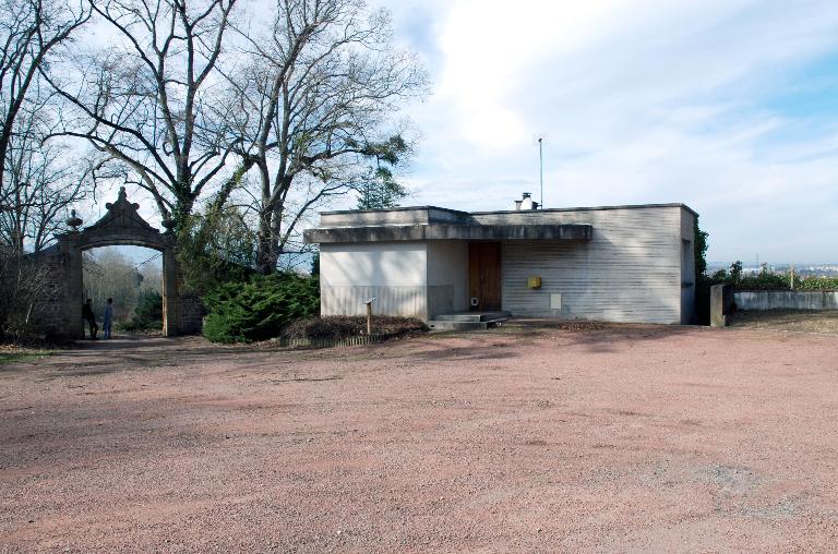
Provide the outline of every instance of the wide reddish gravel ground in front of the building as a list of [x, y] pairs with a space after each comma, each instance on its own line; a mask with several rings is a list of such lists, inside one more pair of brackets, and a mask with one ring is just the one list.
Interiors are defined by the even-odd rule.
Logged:
[[506, 327], [0, 365], [0, 551], [835, 551], [838, 340]]

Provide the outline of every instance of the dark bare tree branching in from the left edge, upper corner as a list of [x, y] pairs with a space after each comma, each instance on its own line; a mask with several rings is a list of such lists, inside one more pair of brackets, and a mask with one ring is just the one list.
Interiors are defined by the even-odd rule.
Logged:
[[[38, 72], [46, 71], [58, 47], [73, 39], [91, 17], [80, 0], [0, 1], [0, 160], [5, 160], [15, 119], [24, 107]], [[0, 190], [5, 171], [0, 170]], [[0, 197], [0, 204], [7, 198]]]

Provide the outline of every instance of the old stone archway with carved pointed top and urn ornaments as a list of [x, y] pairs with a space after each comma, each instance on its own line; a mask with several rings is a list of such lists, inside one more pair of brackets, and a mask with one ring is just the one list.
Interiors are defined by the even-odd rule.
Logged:
[[[106, 204], [108, 213], [98, 221], [81, 231], [81, 219], [73, 217], [68, 221], [72, 230], [58, 234], [58, 245], [53, 252], [60, 260], [60, 288], [62, 293], [53, 294], [60, 298], [60, 328], [57, 334], [68, 338], [84, 338], [84, 322], [82, 321], [82, 304], [84, 303], [84, 284], [82, 281], [82, 260], [85, 250], [99, 246], [133, 245], [145, 246], [163, 253], [163, 334], [170, 337], [181, 333], [200, 330], [200, 314], [197, 329], [194, 314], [183, 317], [184, 300], [189, 306], [187, 312], [193, 312], [196, 303], [194, 297], [182, 298], [182, 279], [176, 256], [176, 241], [171, 232], [160, 232], [143, 219], [137, 209], [139, 204], [128, 201], [124, 186], [119, 190], [117, 201]], [[58, 268], [59, 264], [51, 264]], [[58, 278], [56, 280], [59, 280]], [[56, 291], [58, 292], [58, 291]], [[57, 306], [58, 308], [58, 306]], [[200, 308], [199, 308], [200, 310]], [[55, 314], [58, 315], [58, 314]], [[55, 322], [59, 323], [59, 322]]]

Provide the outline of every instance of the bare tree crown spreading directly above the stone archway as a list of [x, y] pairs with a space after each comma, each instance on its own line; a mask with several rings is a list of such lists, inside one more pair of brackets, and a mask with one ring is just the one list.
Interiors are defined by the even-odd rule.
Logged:
[[207, 107], [236, 0], [103, 0], [94, 13], [118, 45], [80, 58], [75, 85], [50, 77], [79, 118], [61, 131], [101, 155], [97, 179], [148, 191], [181, 226], [230, 152], [226, 116]]

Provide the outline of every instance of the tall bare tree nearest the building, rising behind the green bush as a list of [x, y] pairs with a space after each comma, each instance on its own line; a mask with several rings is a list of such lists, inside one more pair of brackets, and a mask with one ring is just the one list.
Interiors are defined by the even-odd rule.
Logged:
[[[427, 88], [423, 70], [394, 48], [384, 10], [361, 0], [277, 0], [268, 35], [249, 39], [249, 65], [227, 75], [228, 144], [258, 212], [258, 266], [268, 273], [312, 209], [374, 181], [393, 180], [409, 154], [387, 130], [399, 103]], [[230, 182], [220, 193], [232, 191]]]

